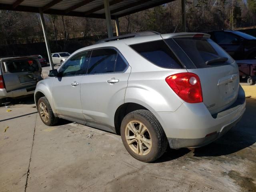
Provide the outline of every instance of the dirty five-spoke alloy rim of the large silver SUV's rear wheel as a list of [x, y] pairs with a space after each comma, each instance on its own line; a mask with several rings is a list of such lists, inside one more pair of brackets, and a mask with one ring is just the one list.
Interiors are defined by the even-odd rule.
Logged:
[[130, 121], [125, 128], [125, 138], [131, 150], [146, 155], [152, 148], [152, 140], [146, 126], [139, 121]]

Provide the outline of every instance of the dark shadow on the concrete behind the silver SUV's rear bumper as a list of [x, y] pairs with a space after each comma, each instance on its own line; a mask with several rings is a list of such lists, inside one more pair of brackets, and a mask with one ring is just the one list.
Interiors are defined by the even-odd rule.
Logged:
[[[256, 142], [256, 99], [246, 99], [246, 112], [242, 120], [224, 136], [208, 144], [195, 148], [196, 157], [218, 157], [236, 153]], [[189, 149], [169, 150], [157, 162], [165, 162], [186, 155]]]

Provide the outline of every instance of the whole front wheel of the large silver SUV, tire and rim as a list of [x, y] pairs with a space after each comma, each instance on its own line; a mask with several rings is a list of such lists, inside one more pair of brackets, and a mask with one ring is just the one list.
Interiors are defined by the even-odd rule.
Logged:
[[[45, 108], [44, 108], [45, 107]], [[43, 108], [45, 110], [43, 110]], [[52, 108], [46, 97], [41, 97], [37, 102], [37, 110], [39, 116], [44, 124], [47, 126], [54, 126], [58, 123], [58, 118], [54, 116]], [[43, 112], [43, 113], [42, 113]], [[48, 115], [47, 115], [47, 113]], [[48, 118], [47, 118], [48, 116]]]

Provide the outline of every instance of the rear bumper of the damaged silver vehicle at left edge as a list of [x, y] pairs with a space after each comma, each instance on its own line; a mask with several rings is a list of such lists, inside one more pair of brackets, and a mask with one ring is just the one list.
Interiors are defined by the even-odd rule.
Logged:
[[36, 86], [12, 90], [10, 92], [7, 92], [6, 89], [0, 89], [0, 99], [16, 98], [16, 97], [20, 97], [20, 96], [34, 94], [35, 89], [36, 89]]

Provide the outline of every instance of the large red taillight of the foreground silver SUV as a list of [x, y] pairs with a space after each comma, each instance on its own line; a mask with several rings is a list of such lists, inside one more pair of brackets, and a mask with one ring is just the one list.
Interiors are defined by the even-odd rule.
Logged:
[[174, 92], [188, 103], [203, 102], [199, 77], [194, 73], [178, 73], [166, 77], [166, 82]]

